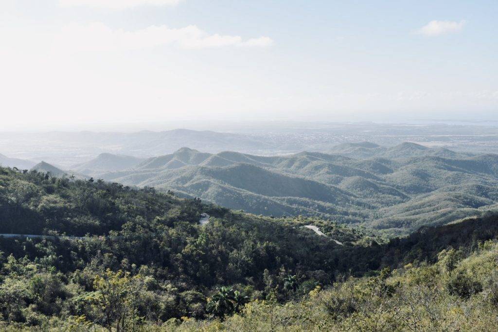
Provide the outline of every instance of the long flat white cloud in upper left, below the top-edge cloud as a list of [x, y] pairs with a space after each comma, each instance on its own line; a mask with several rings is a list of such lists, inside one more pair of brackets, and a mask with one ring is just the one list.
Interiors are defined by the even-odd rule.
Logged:
[[272, 42], [269, 37], [244, 40], [241, 36], [209, 34], [196, 25], [178, 29], [159, 25], [125, 31], [112, 29], [101, 22], [67, 25], [57, 40], [58, 45], [66, 45], [67, 48], [78, 51], [140, 49], [161, 45], [178, 45], [182, 48], [263, 47]]

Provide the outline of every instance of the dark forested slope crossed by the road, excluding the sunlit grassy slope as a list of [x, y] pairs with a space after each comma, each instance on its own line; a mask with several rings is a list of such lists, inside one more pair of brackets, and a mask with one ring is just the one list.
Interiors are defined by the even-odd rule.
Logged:
[[[387, 241], [331, 221], [254, 216], [151, 188], [8, 168], [0, 168], [0, 207], [1, 232], [89, 234], [0, 237], [0, 315], [24, 328], [223, 319], [250, 300], [285, 303], [344, 274], [432, 263], [448, 245], [477, 248], [498, 232], [490, 215]], [[206, 225], [202, 213], [211, 216]], [[231, 304], [219, 307], [223, 299]]]

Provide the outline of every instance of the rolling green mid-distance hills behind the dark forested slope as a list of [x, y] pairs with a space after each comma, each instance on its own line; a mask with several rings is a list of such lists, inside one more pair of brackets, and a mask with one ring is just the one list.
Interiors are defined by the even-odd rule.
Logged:
[[[413, 143], [389, 148], [350, 143], [332, 152], [254, 156], [182, 148], [99, 176], [249, 213], [318, 217], [389, 235], [498, 208], [498, 155], [469, 156]], [[101, 159], [87, 165], [101, 165]]]

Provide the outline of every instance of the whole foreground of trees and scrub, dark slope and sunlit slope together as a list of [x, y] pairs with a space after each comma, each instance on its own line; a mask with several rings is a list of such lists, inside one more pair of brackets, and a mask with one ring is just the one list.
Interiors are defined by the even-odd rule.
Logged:
[[[416, 321], [414, 330], [430, 330], [494, 310], [480, 300], [495, 287], [486, 277], [496, 268], [494, 245], [482, 244], [498, 234], [493, 214], [385, 240], [330, 221], [254, 216], [152, 188], [7, 168], [0, 206], [4, 233], [88, 234], [0, 237], [5, 327], [372, 331], [379, 322], [377, 331], [392, 331]], [[201, 213], [212, 216], [205, 226]], [[302, 227], [309, 224], [326, 236]], [[467, 256], [483, 270], [459, 263]], [[398, 270], [377, 275], [383, 268]], [[420, 293], [434, 308], [424, 307], [420, 289], [434, 291]], [[470, 316], [457, 315], [471, 305]]]

